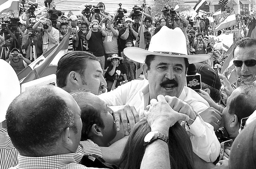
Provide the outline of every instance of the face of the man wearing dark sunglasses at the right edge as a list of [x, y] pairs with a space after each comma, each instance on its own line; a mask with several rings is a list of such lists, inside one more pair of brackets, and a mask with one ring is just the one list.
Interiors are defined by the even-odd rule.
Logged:
[[[234, 51], [234, 60], [256, 60], [256, 45], [252, 47], [237, 47]], [[256, 80], [256, 65], [252, 67], [248, 67], [245, 65], [245, 63], [242, 64], [241, 67], [237, 67], [236, 72], [237, 75], [241, 78], [241, 80], [246, 80], [248, 82], [255, 81]]]

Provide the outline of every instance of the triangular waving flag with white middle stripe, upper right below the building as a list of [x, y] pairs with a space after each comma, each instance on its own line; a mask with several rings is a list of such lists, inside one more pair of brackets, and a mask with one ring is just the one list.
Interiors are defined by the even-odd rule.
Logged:
[[216, 25], [215, 27], [215, 32], [231, 27], [233, 25], [236, 25], [237, 21], [236, 21], [236, 14], [234, 11], [231, 11], [226, 17], [225, 19], [223, 19], [223, 21], [221, 23], [219, 23], [218, 25]]

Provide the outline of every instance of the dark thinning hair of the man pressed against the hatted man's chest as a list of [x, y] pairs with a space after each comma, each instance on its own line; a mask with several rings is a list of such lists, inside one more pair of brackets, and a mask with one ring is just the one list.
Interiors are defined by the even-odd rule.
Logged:
[[88, 93], [86, 91], [78, 91], [71, 94], [75, 101], [78, 103], [78, 106], [81, 109], [81, 119], [82, 119], [82, 134], [81, 141], [85, 141], [87, 139], [91, 139], [88, 134], [91, 131], [91, 127], [94, 124], [105, 128], [104, 122], [101, 118], [101, 112], [95, 109], [94, 106], [87, 104], [85, 101], [87, 100]]

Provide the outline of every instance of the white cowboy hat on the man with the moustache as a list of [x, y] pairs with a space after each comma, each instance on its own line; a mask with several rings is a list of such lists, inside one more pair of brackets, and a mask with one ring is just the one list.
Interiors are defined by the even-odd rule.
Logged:
[[180, 28], [172, 30], [166, 26], [152, 36], [148, 50], [127, 47], [124, 48], [124, 54], [139, 63], [144, 63], [147, 55], [188, 58], [189, 64], [203, 62], [210, 58], [207, 54], [188, 55], [186, 38], [182, 30]]

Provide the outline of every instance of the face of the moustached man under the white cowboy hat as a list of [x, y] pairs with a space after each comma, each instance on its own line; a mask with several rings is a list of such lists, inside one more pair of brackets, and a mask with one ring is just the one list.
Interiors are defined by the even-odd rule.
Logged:
[[180, 96], [187, 72], [184, 58], [155, 56], [150, 70], [143, 67], [143, 72], [149, 82], [150, 98], [159, 94]]

